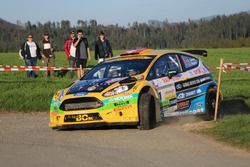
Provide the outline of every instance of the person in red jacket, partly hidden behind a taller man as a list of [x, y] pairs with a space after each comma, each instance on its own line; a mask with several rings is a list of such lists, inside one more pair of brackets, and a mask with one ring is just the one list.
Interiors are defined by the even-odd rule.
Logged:
[[[70, 32], [70, 39], [68, 39], [64, 43], [64, 52], [66, 54], [66, 58], [69, 61], [69, 65], [71, 68], [76, 67], [76, 48], [73, 45], [73, 41], [75, 39], [75, 32], [71, 31]], [[70, 71], [70, 78], [73, 78], [74, 76], [74, 71]]]

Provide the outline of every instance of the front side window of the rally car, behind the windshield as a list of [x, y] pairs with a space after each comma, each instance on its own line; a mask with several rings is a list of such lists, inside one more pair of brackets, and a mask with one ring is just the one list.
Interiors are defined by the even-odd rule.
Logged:
[[151, 68], [147, 79], [153, 80], [167, 76], [169, 70], [181, 72], [178, 58], [175, 54], [168, 54], [160, 57]]

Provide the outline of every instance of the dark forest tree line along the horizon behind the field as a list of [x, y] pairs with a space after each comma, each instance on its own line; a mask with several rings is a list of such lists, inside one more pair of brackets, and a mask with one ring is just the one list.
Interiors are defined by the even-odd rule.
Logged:
[[99, 31], [107, 34], [113, 49], [250, 47], [250, 14], [242, 12], [179, 23], [164, 20], [128, 26], [102, 25], [96, 20], [78, 20], [74, 26], [69, 20], [44, 24], [28, 21], [23, 26], [0, 24], [0, 52], [17, 51], [28, 33], [39, 41], [44, 31], [50, 33], [57, 49], [63, 50], [69, 32], [77, 29], [83, 29], [92, 49]]

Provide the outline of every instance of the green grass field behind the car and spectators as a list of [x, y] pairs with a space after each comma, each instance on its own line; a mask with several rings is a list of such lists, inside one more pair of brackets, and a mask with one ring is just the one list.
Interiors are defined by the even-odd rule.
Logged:
[[[115, 55], [120, 51], [115, 51]], [[93, 66], [93, 58], [89, 63]], [[208, 49], [208, 57], [202, 58], [211, 67], [217, 80], [220, 58], [225, 62], [250, 62], [250, 48]], [[0, 65], [24, 65], [17, 53], [0, 53]], [[39, 61], [38, 65], [41, 65]], [[67, 67], [63, 52], [56, 53], [56, 66]], [[43, 72], [37, 72], [38, 78], [28, 79], [25, 72], [0, 72], [0, 111], [48, 111], [52, 95], [72, 81], [68, 74], [64, 77], [44, 78]], [[250, 73], [233, 71], [223, 73], [222, 92], [229, 104], [242, 104], [244, 110], [250, 106]], [[239, 103], [239, 104], [238, 104]], [[239, 108], [240, 109], [240, 108]], [[240, 112], [240, 111], [237, 111]]]

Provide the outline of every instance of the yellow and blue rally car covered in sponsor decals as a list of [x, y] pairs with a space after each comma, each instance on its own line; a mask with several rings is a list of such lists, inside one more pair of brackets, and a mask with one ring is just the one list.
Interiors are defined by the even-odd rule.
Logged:
[[217, 85], [196, 54], [207, 56], [204, 50], [139, 49], [107, 59], [53, 96], [49, 126], [147, 130], [171, 116], [211, 119]]

